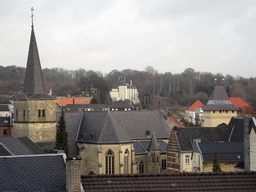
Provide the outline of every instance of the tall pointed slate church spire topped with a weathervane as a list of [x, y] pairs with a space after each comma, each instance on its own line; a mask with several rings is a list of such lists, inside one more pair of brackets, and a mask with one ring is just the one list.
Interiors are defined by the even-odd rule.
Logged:
[[[31, 8], [31, 11], [33, 10], [34, 9]], [[36, 37], [34, 33], [33, 12], [32, 12], [31, 38], [30, 38], [23, 93], [27, 95], [45, 94], [43, 73], [41, 69], [38, 49], [36, 45]]]

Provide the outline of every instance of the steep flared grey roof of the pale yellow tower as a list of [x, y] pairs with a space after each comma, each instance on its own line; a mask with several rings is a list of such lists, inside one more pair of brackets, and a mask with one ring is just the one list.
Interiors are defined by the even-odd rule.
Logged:
[[204, 111], [213, 111], [213, 110], [234, 110], [236, 108], [230, 101], [227, 92], [223, 86], [216, 86], [209, 98], [208, 103], [203, 107]]

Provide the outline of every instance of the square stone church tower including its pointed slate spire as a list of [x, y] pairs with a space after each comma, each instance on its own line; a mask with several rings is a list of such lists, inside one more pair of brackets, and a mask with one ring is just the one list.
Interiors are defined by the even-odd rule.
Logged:
[[56, 139], [56, 101], [45, 92], [33, 24], [23, 94], [13, 104], [16, 137], [27, 136], [34, 142]]

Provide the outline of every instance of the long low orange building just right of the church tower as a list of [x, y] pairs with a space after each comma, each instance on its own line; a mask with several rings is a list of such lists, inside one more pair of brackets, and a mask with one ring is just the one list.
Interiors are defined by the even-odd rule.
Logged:
[[92, 97], [56, 97], [56, 101], [60, 106], [68, 104], [90, 104]]

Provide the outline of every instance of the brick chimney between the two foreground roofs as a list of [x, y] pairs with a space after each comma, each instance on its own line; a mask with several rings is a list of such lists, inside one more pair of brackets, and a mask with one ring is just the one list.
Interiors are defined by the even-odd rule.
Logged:
[[66, 186], [68, 192], [81, 192], [81, 158], [67, 160]]

